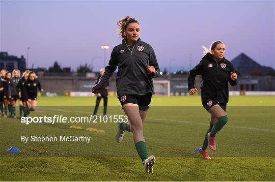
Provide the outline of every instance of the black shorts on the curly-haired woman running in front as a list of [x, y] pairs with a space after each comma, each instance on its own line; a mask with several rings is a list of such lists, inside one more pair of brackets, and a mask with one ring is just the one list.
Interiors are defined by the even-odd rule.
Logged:
[[118, 97], [121, 106], [127, 103], [139, 105], [141, 111], [147, 111], [149, 109], [149, 104], [151, 103], [152, 94], [146, 95], [125, 95]]

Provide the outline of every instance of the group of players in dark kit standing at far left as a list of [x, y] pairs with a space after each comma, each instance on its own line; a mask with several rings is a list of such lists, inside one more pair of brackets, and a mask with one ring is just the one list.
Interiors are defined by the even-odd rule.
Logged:
[[35, 72], [26, 70], [20, 78], [20, 70], [0, 72], [0, 116], [16, 118], [16, 101], [20, 118], [26, 117], [37, 106], [37, 91], [43, 92]]

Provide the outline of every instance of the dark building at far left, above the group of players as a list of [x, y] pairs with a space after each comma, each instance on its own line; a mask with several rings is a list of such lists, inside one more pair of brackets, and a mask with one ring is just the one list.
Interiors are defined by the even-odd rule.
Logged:
[[16, 68], [20, 71], [26, 69], [26, 60], [24, 56], [21, 55], [21, 57], [17, 57], [15, 55], [9, 55], [8, 52], [0, 52], [0, 69], [13, 71]]

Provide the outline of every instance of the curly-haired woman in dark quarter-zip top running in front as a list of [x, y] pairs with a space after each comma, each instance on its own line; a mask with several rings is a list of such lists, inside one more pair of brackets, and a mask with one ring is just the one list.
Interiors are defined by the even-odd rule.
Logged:
[[159, 67], [153, 48], [140, 39], [140, 23], [127, 16], [118, 21], [117, 25], [122, 44], [114, 47], [109, 65], [93, 87], [93, 93], [106, 84], [118, 67], [118, 99], [129, 122], [118, 123], [116, 140], [122, 141], [125, 130], [132, 132], [135, 148], [143, 161], [145, 171], [152, 173], [155, 157], [148, 157], [143, 122], [154, 94], [152, 78], [158, 77]]

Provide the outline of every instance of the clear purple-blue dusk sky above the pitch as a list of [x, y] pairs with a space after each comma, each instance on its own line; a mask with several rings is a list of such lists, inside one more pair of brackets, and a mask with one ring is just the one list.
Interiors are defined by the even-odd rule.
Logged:
[[29, 67], [57, 60], [73, 70], [102, 68], [121, 43], [116, 22], [134, 16], [141, 40], [155, 50], [160, 69], [189, 70], [201, 60], [202, 45], [222, 40], [226, 58], [244, 52], [274, 68], [274, 1], [1, 1], [0, 51], [26, 57]]

